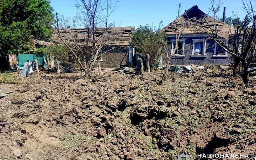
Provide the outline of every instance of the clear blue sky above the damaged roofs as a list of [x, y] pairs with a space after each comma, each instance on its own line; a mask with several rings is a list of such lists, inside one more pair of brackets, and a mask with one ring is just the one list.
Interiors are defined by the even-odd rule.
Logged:
[[[55, 12], [59, 12], [65, 17], [74, 17], [76, 8], [75, 0], [50, 0]], [[168, 25], [175, 20], [178, 12], [178, 3], [182, 3], [181, 14], [193, 5], [198, 5], [199, 9], [208, 13], [210, 0], [119, 0], [119, 7], [111, 15], [110, 22], [116, 22], [120, 26], [158, 25], [163, 20], [164, 25]], [[238, 12], [242, 18], [245, 16], [242, 11], [242, 0], [222, 0], [223, 5], [218, 16], [222, 16], [223, 7], [226, 7], [226, 16], [231, 16], [231, 12]]]

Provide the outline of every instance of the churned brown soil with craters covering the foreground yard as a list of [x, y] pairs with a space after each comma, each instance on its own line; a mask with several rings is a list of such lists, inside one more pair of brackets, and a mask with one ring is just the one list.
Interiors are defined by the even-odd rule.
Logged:
[[[256, 157], [256, 81], [206, 70], [158, 86], [104, 70], [41, 73], [0, 99], [0, 159], [177, 159], [182, 152]], [[145, 74], [160, 79], [162, 72]], [[95, 72], [96, 75], [96, 72]], [[9, 87], [9, 89], [6, 88]], [[195, 95], [194, 95], [195, 94]]]

